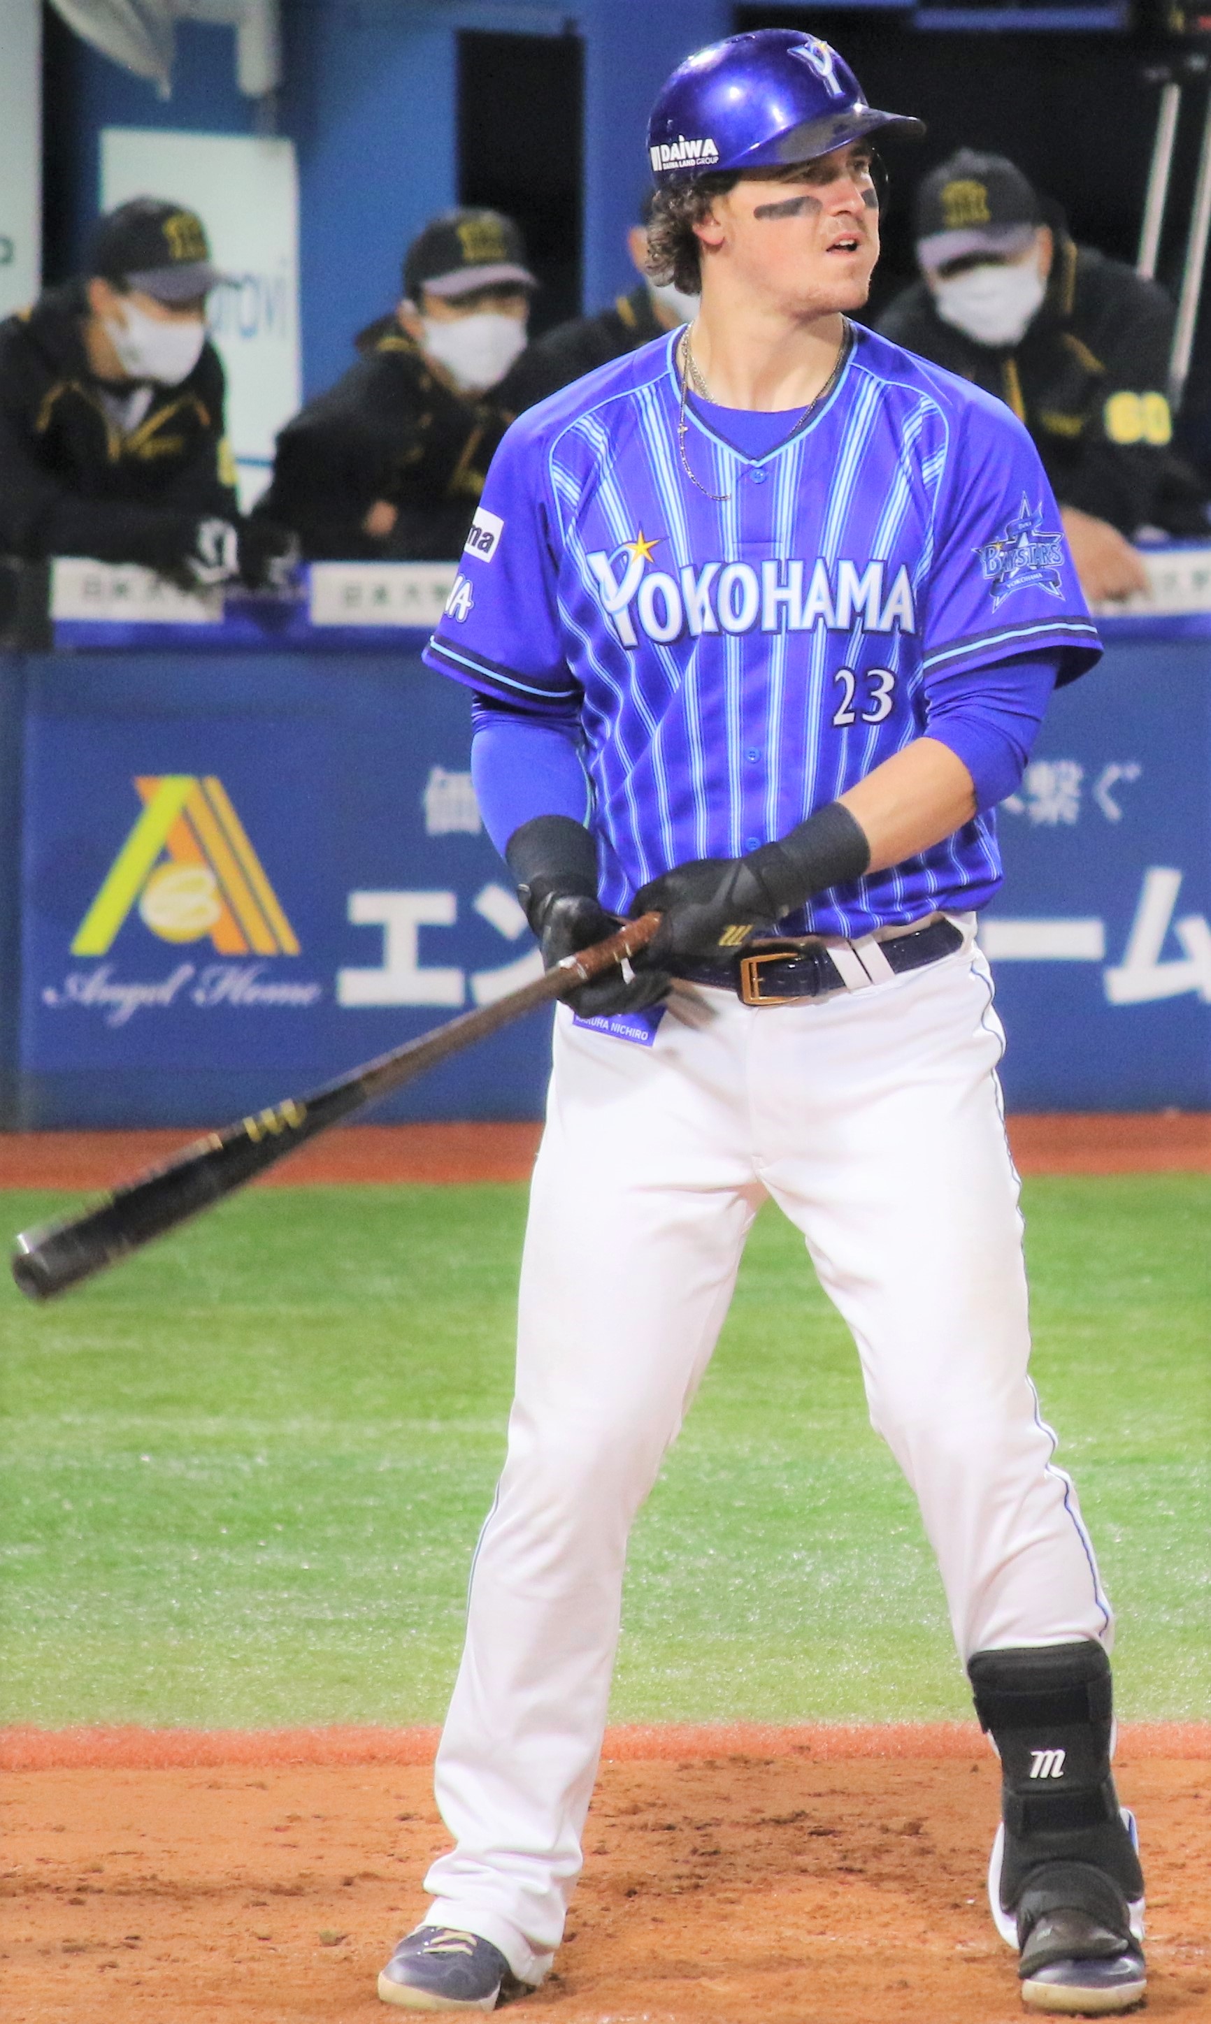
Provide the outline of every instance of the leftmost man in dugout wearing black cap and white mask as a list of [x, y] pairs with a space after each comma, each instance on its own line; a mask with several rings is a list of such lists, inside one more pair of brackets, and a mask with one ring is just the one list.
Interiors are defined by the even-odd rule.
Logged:
[[142, 563], [186, 587], [284, 581], [294, 542], [235, 502], [200, 219], [132, 198], [85, 279], [0, 324], [0, 553]]

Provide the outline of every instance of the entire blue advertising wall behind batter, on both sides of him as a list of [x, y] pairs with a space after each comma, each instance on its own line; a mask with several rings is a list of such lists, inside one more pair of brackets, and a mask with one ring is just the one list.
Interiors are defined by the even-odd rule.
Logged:
[[[415, 652], [22, 662], [12, 1121], [205, 1125], [537, 972]], [[1116, 644], [1000, 812], [1015, 1109], [1211, 1107], [1211, 646]], [[547, 1018], [379, 1117], [537, 1117]]]

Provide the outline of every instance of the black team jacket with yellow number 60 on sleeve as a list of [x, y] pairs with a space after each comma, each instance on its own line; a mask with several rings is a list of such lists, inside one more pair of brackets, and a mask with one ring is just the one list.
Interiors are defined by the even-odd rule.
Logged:
[[925, 281], [879, 318], [893, 344], [998, 395], [1031, 431], [1061, 506], [1122, 534], [1207, 534], [1203, 488], [1175, 455], [1164, 385], [1173, 304], [1124, 261], [1057, 233], [1047, 296], [1013, 348], [944, 324]]

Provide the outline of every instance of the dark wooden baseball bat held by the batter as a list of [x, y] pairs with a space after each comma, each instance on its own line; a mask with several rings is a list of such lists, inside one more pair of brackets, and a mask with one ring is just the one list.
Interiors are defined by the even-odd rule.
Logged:
[[36, 1231], [22, 1231], [12, 1255], [12, 1277], [30, 1299], [53, 1299], [69, 1285], [91, 1279], [93, 1273], [115, 1265], [117, 1259], [142, 1249], [152, 1237], [196, 1216], [203, 1208], [221, 1202], [225, 1194], [243, 1188], [245, 1182], [263, 1174], [265, 1168], [286, 1160], [308, 1140], [318, 1137], [330, 1125], [350, 1117], [391, 1089], [415, 1081], [439, 1061], [458, 1055], [476, 1040], [486, 1040], [490, 1032], [535, 1012], [553, 998], [567, 998], [581, 984], [591, 984], [606, 969], [626, 961], [648, 945], [660, 915], [644, 913], [638, 921], [628, 921], [606, 941], [565, 955], [555, 969], [508, 992], [496, 1004], [464, 1012], [423, 1032], [417, 1040], [365, 1063], [350, 1075], [326, 1083], [310, 1097], [290, 1097], [275, 1109], [259, 1111], [255, 1117], [241, 1117], [239, 1123], [223, 1131], [209, 1131], [172, 1156], [164, 1166], [148, 1168], [126, 1186], [115, 1188], [95, 1208], [67, 1216], [63, 1222], [49, 1222]]

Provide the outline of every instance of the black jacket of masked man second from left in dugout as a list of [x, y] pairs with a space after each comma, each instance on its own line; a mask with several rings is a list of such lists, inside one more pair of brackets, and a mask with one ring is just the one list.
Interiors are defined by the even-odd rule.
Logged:
[[[281, 429], [257, 516], [294, 528], [308, 561], [450, 561], [516, 407], [500, 389], [450, 389], [393, 316], [356, 346], [356, 364]], [[387, 536], [362, 526], [379, 500], [397, 510]]]

